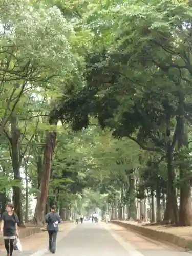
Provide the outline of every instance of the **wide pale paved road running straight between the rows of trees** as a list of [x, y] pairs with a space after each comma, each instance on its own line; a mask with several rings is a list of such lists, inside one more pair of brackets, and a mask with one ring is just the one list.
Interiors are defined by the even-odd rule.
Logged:
[[[179, 251], [178, 248], [174, 249], [170, 246], [153, 247], [151, 246], [153, 242], [145, 241], [145, 238], [142, 240], [142, 242], [145, 241], [144, 247], [140, 245], [141, 241], [138, 244], [132, 243], [131, 238], [135, 236], [137, 240], [137, 234], [128, 232], [129, 236], [132, 234], [133, 236], [130, 237], [130, 241], [127, 241], [123, 236], [121, 238], [121, 233], [117, 233], [115, 229], [112, 230], [110, 225], [115, 226], [90, 222], [78, 224], [66, 237], [58, 241], [55, 256], [191, 256], [188, 252]], [[48, 255], [52, 254], [46, 249], [31, 256]]]

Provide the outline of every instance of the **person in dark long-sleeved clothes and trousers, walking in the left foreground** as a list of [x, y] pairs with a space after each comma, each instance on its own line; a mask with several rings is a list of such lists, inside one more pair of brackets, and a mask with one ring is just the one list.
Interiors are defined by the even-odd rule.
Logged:
[[45, 221], [47, 223], [47, 231], [49, 234], [49, 251], [55, 253], [58, 224], [61, 223], [61, 218], [56, 212], [55, 205], [51, 206], [51, 212], [46, 214]]

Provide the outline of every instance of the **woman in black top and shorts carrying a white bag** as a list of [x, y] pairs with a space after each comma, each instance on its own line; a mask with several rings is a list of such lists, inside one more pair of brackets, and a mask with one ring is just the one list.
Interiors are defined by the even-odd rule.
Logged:
[[0, 232], [3, 233], [7, 256], [13, 255], [13, 246], [18, 236], [18, 216], [14, 212], [13, 204], [7, 203], [6, 211], [1, 216]]

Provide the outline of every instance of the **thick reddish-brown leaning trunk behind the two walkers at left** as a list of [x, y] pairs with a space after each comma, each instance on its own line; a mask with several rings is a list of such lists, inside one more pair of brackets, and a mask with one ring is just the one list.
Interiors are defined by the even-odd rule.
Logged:
[[37, 225], [42, 224], [44, 222], [45, 206], [48, 196], [49, 182], [51, 176], [51, 164], [55, 148], [55, 142], [56, 133], [48, 132], [45, 142], [44, 164], [40, 182], [40, 195], [37, 197], [37, 204], [35, 208], [35, 214], [33, 217], [33, 222], [36, 223]]

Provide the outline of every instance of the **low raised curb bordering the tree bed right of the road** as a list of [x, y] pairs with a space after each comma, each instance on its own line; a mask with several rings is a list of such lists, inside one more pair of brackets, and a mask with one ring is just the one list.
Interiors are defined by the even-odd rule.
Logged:
[[119, 225], [124, 228], [129, 228], [130, 230], [140, 233], [143, 236], [151, 238], [153, 240], [159, 240], [159, 241], [163, 241], [166, 243], [168, 242], [170, 244], [174, 244], [178, 247], [184, 248], [187, 251], [192, 250], [192, 240], [176, 236], [175, 234], [170, 234], [170, 233], [163, 232], [163, 231], [157, 231], [157, 230], [153, 230], [153, 229], [150, 229], [147, 227], [136, 226], [136, 225], [133, 225], [130, 223], [124, 223], [121, 221], [112, 221], [111, 220], [111, 223], [114, 223], [114, 224]]

